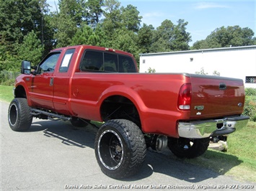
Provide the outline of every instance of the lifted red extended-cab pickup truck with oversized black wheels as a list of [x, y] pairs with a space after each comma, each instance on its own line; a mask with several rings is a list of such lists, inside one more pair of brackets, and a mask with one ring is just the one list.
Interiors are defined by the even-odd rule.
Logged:
[[198, 157], [209, 141], [245, 126], [243, 81], [188, 73], [138, 73], [131, 54], [79, 45], [51, 51], [37, 67], [22, 61], [9, 126], [26, 131], [32, 118], [74, 126], [102, 121], [95, 155], [102, 172], [122, 179], [138, 171], [146, 149], [167, 146]]

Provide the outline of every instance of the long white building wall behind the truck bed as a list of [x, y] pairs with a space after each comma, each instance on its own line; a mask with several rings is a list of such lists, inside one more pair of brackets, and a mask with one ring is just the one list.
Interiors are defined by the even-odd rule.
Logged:
[[140, 72], [148, 72], [149, 67], [156, 73], [195, 73], [203, 68], [208, 75], [216, 71], [244, 80], [247, 88], [256, 88], [256, 83], [245, 83], [246, 76], [256, 77], [256, 46], [141, 55]]

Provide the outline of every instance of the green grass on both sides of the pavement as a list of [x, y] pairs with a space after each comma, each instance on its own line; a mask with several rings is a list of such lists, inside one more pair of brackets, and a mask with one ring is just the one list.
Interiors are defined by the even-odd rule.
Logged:
[[[12, 86], [0, 85], [1, 101], [12, 101], [12, 88]], [[228, 136], [227, 152], [208, 149], [200, 157], [182, 161], [212, 169], [219, 174], [226, 174], [240, 181], [256, 182], [255, 131], [256, 122], [250, 121], [244, 129]]]

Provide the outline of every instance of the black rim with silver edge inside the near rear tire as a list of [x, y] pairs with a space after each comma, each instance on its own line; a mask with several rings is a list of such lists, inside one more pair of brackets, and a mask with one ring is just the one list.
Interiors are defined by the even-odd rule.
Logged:
[[120, 136], [112, 130], [106, 130], [100, 135], [97, 145], [100, 162], [107, 169], [117, 169], [123, 162], [123, 142]]

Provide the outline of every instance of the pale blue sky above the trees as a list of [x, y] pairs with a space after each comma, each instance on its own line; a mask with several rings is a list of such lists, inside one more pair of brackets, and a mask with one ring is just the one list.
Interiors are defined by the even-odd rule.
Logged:
[[[55, 0], [58, 4], [58, 0]], [[142, 16], [141, 26], [152, 24], [159, 27], [165, 19], [177, 24], [184, 19], [187, 32], [190, 32], [194, 42], [206, 39], [216, 28], [239, 25], [248, 27], [255, 32], [256, 37], [256, 0], [119, 0], [121, 6], [132, 4], [137, 7]], [[54, 6], [54, 0], [47, 1]]]

